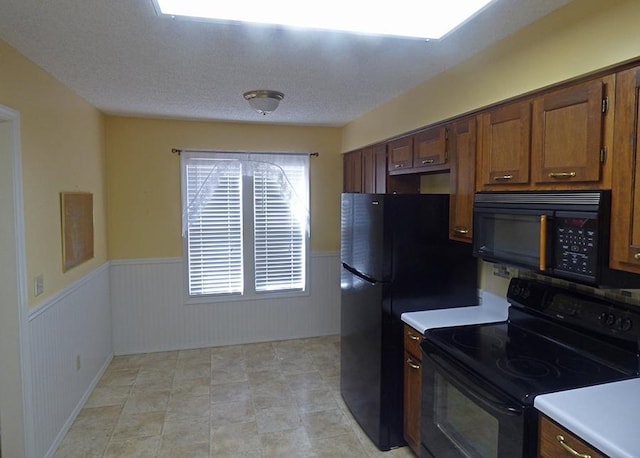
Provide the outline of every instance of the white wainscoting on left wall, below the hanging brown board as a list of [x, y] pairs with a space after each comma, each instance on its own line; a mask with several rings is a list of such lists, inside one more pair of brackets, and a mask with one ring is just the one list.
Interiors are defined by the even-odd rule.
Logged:
[[111, 361], [109, 293], [107, 263], [29, 314], [34, 456], [53, 455]]

